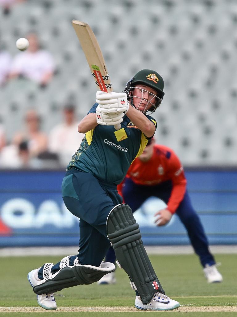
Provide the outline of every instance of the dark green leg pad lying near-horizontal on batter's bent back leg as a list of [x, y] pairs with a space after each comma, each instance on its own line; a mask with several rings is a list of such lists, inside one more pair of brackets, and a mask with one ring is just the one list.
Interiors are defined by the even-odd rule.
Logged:
[[48, 280], [42, 280], [33, 287], [35, 294], [52, 294], [76, 285], [88, 285], [97, 282], [115, 270], [113, 263], [101, 263], [100, 267], [92, 265], [76, 264], [73, 267], [66, 266], [49, 276]]

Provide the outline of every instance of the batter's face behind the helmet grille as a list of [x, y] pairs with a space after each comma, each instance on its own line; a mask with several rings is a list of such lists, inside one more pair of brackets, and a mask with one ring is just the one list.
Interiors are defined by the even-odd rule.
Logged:
[[157, 92], [155, 89], [143, 85], [136, 85], [132, 92], [133, 105], [142, 112], [148, 111], [157, 102]]

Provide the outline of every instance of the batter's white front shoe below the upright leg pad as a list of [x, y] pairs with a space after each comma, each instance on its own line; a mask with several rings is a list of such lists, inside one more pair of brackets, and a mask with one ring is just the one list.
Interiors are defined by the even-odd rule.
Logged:
[[174, 301], [160, 292], [156, 292], [153, 299], [147, 305], [142, 303], [140, 296], [136, 296], [135, 299], [135, 307], [143, 310], [172, 310], [179, 306], [178, 301]]

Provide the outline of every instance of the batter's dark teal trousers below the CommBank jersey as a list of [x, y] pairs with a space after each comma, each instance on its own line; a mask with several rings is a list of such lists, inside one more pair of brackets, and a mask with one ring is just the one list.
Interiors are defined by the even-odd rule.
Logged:
[[[117, 186], [90, 173], [71, 169], [63, 179], [62, 194], [67, 209], [80, 218], [79, 250], [77, 255], [70, 257], [69, 265], [73, 265], [77, 256], [80, 264], [99, 267], [110, 247], [106, 235], [108, 214], [123, 202]], [[59, 270], [59, 264], [52, 267], [53, 274]], [[38, 272], [40, 279], [43, 279], [43, 267]]]

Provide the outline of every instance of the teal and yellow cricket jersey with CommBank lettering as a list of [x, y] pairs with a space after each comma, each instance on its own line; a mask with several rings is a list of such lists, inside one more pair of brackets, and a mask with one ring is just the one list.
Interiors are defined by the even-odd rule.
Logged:
[[[95, 103], [88, 113], [95, 113], [97, 105]], [[155, 119], [146, 116], [156, 128]], [[67, 171], [76, 168], [96, 178], [120, 184], [132, 161], [142, 154], [150, 139], [126, 115], [123, 119], [119, 130], [115, 130], [114, 126], [97, 125], [88, 131], [69, 162]]]

